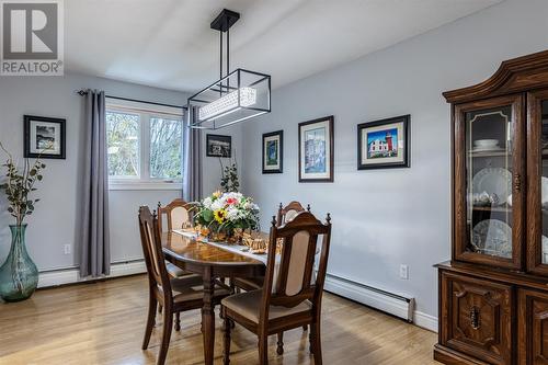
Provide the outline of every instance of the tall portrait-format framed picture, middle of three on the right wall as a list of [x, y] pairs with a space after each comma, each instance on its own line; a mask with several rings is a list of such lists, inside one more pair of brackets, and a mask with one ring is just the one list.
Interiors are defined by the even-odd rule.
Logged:
[[299, 123], [299, 182], [333, 182], [333, 116]]

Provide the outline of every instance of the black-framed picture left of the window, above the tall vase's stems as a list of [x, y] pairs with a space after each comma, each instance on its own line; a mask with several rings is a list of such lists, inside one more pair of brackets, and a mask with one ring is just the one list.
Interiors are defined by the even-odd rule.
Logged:
[[65, 159], [66, 119], [24, 116], [24, 157]]

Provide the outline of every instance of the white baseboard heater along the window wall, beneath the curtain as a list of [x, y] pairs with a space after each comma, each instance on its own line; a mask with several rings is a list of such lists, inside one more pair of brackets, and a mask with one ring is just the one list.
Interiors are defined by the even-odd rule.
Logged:
[[[141, 274], [146, 272], [147, 267], [144, 261], [115, 263], [111, 265], [111, 275], [104, 277], [106, 278], [106, 277], [127, 276], [134, 274]], [[39, 273], [38, 287], [58, 286], [65, 284], [87, 282], [90, 280], [96, 280], [96, 278], [80, 277], [80, 272], [78, 269], [48, 271]]]

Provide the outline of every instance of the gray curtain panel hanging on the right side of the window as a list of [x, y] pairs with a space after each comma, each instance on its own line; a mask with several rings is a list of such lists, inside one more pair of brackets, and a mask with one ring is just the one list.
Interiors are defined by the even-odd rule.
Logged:
[[190, 107], [183, 128], [183, 198], [196, 202], [202, 198], [202, 129], [190, 128], [197, 115], [196, 107]]

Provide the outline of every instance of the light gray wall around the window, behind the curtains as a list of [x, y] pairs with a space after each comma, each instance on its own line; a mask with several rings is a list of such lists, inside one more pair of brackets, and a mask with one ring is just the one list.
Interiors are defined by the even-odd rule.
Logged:
[[[23, 155], [23, 115], [41, 115], [67, 119], [67, 159], [45, 160], [47, 168], [37, 196], [35, 215], [28, 218], [27, 247], [38, 269], [55, 270], [78, 265], [77, 212], [79, 206], [79, 164], [82, 153], [83, 99], [75, 92], [96, 88], [106, 94], [181, 105], [184, 93], [148, 88], [80, 75], [65, 77], [1, 77], [0, 78], [0, 141], [19, 159]], [[240, 126], [222, 133], [235, 134], [235, 146], [240, 142]], [[205, 136], [204, 136], [205, 140]], [[237, 148], [241, 161], [241, 149]], [[205, 156], [205, 152], [204, 152]], [[204, 157], [205, 192], [219, 182], [218, 160]], [[3, 161], [4, 157], [0, 158]], [[3, 171], [2, 171], [3, 174]], [[136, 214], [138, 206], [156, 206], [179, 197], [179, 191], [111, 191], [112, 261], [140, 259], [141, 249]], [[5, 198], [0, 197], [0, 262], [10, 248]], [[66, 255], [64, 246], [71, 244]], [[1, 264], [1, 263], [0, 263]]]

